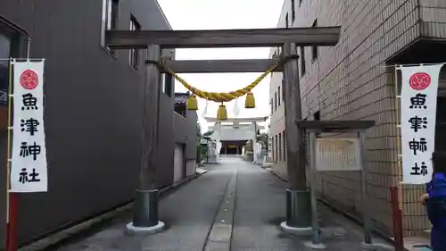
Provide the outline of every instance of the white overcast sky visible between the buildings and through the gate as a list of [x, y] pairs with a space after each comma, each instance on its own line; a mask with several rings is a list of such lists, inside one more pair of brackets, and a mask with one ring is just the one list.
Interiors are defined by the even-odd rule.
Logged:
[[[158, 0], [172, 29], [260, 29], [276, 28], [284, 0]], [[270, 48], [177, 49], [177, 59], [257, 59], [268, 58]], [[183, 79], [207, 91], [232, 91], [252, 83], [261, 73], [181, 74]], [[176, 92], [186, 92], [180, 83]], [[254, 88], [255, 109], [244, 109], [244, 96], [239, 98], [238, 117], [269, 115], [269, 76]], [[206, 102], [198, 99], [198, 117], [202, 131], [207, 124], [202, 118]], [[215, 117], [217, 103], [209, 103], [207, 116]], [[228, 116], [234, 117], [235, 101], [226, 103]], [[267, 124], [265, 124], [266, 126]]]

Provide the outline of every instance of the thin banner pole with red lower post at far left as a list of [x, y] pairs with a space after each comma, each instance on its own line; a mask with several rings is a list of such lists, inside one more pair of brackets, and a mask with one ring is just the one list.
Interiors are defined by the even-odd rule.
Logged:
[[16, 193], [10, 193], [11, 188], [11, 134], [12, 134], [12, 59], [9, 63], [9, 87], [8, 87], [8, 128], [6, 146], [6, 251], [17, 250], [17, 207], [19, 204]]

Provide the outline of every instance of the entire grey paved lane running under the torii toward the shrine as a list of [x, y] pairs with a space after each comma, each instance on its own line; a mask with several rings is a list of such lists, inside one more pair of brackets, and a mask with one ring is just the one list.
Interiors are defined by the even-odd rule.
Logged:
[[[153, 236], [128, 236], [131, 213], [111, 226], [59, 247], [61, 251], [306, 251], [309, 237], [280, 230], [285, 221], [286, 183], [251, 163], [226, 159], [202, 177], [163, 197], [160, 218], [167, 229]], [[327, 251], [358, 251], [361, 229], [320, 205]], [[377, 239], [377, 238], [376, 238]], [[380, 240], [383, 248], [393, 250]]]

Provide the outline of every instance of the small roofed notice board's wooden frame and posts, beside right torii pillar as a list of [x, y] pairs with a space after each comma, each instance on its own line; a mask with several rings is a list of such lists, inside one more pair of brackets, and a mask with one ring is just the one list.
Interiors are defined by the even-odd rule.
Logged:
[[[364, 249], [374, 249], [372, 240], [372, 226], [369, 213], [369, 200], [367, 193], [367, 164], [366, 164], [366, 130], [375, 125], [375, 121], [296, 121], [297, 127], [304, 130], [309, 138], [310, 152], [310, 196], [311, 196], [311, 242], [307, 243], [307, 247], [313, 249], [324, 249], [326, 246], [320, 238], [320, 228], [318, 223], [318, 197], [316, 191], [316, 179], [318, 173], [317, 166], [317, 137], [319, 133], [356, 133], [359, 139], [359, 167], [357, 170], [361, 172], [361, 197], [362, 197], [362, 213], [364, 220]], [[340, 171], [340, 170], [334, 170]]]

